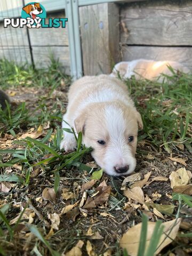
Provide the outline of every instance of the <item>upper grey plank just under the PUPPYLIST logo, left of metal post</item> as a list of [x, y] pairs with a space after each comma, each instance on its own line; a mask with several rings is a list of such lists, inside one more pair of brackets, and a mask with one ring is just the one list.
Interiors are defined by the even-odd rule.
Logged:
[[[65, 12], [52, 13], [47, 15], [46, 23], [49, 18], [65, 18]], [[66, 28], [31, 28], [29, 36], [32, 46], [68, 46], [68, 29]]]

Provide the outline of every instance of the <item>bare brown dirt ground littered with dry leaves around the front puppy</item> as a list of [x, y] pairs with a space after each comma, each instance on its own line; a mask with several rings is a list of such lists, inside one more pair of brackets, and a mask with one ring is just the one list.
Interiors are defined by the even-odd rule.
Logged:
[[[50, 89], [46, 88], [20, 87], [7, 90], [6, 92], [12, 95], [10, 98], [13, 108], [16, 108], [24, 101], [26, 102], [27, 109], [31, 111], [43, 102], [46, 106], [46, 111], [52, 111], [52, 106], [56, 103], [58, 110], [61, 109], [61, 104], [64, 106], [62, 109], [64, 113], [65, 107], [67, 106], [67, 87], [65, 85], [54, 90], [50, 96]], [[55, 128], [55, 125], [52, 123], [49, 123], [49, 126], [47, 126], [48, 123], [47, 121], [46, 124], [42, 124], [42, 134], [39, 135], [38, 139], [42, 139], [45, 133], [52, 127], [53, 129]], [[57, 124], [60, 125], [60, 122], [58, 121]], [[46, 126], [49, 128], [46, 129]], [[34, 133], [36, 130], [37, 127], [30, 127], [29, 129], [27, 127], [26, 129], [24, 125], [17, 132], [16, 139], [22, 134], [29, 136], [30, 133]], [[15, 138], [11, 134], [3, 134], [0, 149], [17, 149], [18, 145], [12, 143], [14, 140]], [[20, 148], [22, 148], [22, 145], [20, 145]], [[3, 163], [6, 163], [11, 157], [10, 154], [3, 154], [1, 160]], [[119, 239], [122, 238], [123, 234], [130, 227], [141, 222], [142, 213], [148, 216], [149, 221], [162, 219], [166, 222], [174, 219], [178, 211], [178, 201], [171, 199], [173, 189], [171, 188], [169, 177], [172, 172], [183, 167], [187, 171], [192, 171], [192, 157], [190, 153], [187, 150], [182, 151], [175, 147], [170, 154], [163, 150], [163, 148], [162, 150], [158, 150], [147, 140], [141, 140], [138, 143], [136, 157], [137, 167], [134, 173], [139, 173], [139, 179], [145, 179], [146, 174], [150, 173], [148, 180], [141, 187], [145, 202], [152, 202], [159, 205], [175, 205], [173, 213], [161, 213], [163, 217], [161, 218], [159, 217], [161, 215], [158, 215], [153, 207], [143, 207], [141, 203], [135, 201], [133, 198], [127, 198], [124, 195], [124, 191], [127, 188], [132, 189], [131, 186], [134, 185], [135, 181], [127, 182], [125, 186], [122, 186], [125, 177], [115, 178], [103, 174], [100, 180], [86, 190], [85, 195], [83, 194], [82, 186], [90, 182], [90, 174], [86, 170], [79, 171], [78, 167], [75, 166], [64, 167], [60, 170], [58, 193], [55, 198], [46, 199], [46, 196], [43, 196], [43, 191], [45, 188], [53, 188], [54, 170], [50, 168], [49, 171], [48, 169], [45, 171], [43, 167], [36, 166], [31, 169], [28, 186], [7, 182], [11, 183], [11, 189], [9, 190], [7, 188], [7, 192], [5, 190], [1, 191], [1, 205], [5, 203], [11, 205], [11, 209], [6, 215], [8, 220], [11, 221], [15, 217], [18, 217], [23, 207], [26, 206], [28, 209], [28, 214], [25, 215], [25, 218], [21, 218], [17, 226], [14, 239], [5, 241], [3, 238], [0, 238], [1, 246], [3, 245], [7, 252], [6, 255], [54, 255], [41, 242], [41, 239], [38, 239], [34, 234], [29, 232], [26, 226], [27, 222], [37, 226], [46, 240], [49, 241], [51, 248], [59, 251], [62, 255], [81, 255], [78, 254], [79, 251], [74, 254], [67, 253], [79, 241], [83, 241], [81, 246], [77, 246], [81, 250], [82, 255], [107, 256], [123, 255], [123, 251], [119, 245]], [[177, 162], [175, 158], [183, 159], [183, 161]], [[90, 154], [82, 157], [81, 162], [84, 164], [91, 163], [91, 166], [94, 166]], [[25, 173], [23, 173], [23, 169], [19, 163], [11, 167], [2, 168], [1, 173], [18, 173], [21, 177], [25, 177]], [[161, 180], [159, 177], [167, 178], [167, 180]], [[154, 178], [157, 178], [157, 180], [153, 180]], [[152, 182], [148, 184], [150, 181]], [[103, 195], [104, 197], [106, 196], [107, 200], [101, 204], [96, 204], [95, 207], [84, 207], [88, 196], [94, 198], [93, 195], [101, 182], [105, 182], [105, 186], [110, 187], [108, 195]], [[6, 185], [9, 187], [8, 184]], [[66, 193], [68, 193], [68, 197], [66, 197]], [[79, 204], [82, 202], [83, 195], [86, 199], [80, 207]], [[70, 211], [63, 213], [63, 209], [66, 206], [74, 204], [76, 205]], [[192, 223], [191, 208], [182, 205], [179, 215], [182, 217], [180, 232], [182, 233], [183, 230], [190, 231]], [[12, 223], [15, 222], [12, 221]], [[159, 255], [191, 255], [190, 246], [191, 238], [177, 237]]]

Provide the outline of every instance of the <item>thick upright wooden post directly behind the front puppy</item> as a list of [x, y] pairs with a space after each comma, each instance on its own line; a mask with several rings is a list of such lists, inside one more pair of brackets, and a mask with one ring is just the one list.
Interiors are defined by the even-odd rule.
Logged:
[[84, 75], [110, 73], [119, 61], [118, 11], [116, 4], [79, 7]]

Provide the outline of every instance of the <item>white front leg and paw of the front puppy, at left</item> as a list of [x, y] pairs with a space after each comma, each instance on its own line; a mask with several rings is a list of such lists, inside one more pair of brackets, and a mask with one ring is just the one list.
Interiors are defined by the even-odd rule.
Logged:
[[[67, 114], [63, 115], [62, 128], [70, 129], [68, 123]], [[64, 148], [66, 152], [74, 150], [77, 147], [77, 142], [73, 133], [63, 131], [63, 139], [61, 141], [60, 149]]]

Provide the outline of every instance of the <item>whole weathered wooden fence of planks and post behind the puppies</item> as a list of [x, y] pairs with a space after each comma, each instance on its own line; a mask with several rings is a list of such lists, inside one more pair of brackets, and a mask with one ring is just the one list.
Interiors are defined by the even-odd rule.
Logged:
[[[65, 10], [49, 13], [50, 17], [65, 17]], [[79, 18], [85, 75], [110, 73], [116, 62], [140, 58], [180, 61], [192, 70], [191, 1], [81, 6]], [[0, 58], [31, 63], [32, 56], [38, 68], [47, 66], [52, 53], [69, 74], [68, 29], [28, 32], [29, 37], [27, 28], [3, 28], [1, 23]]]

